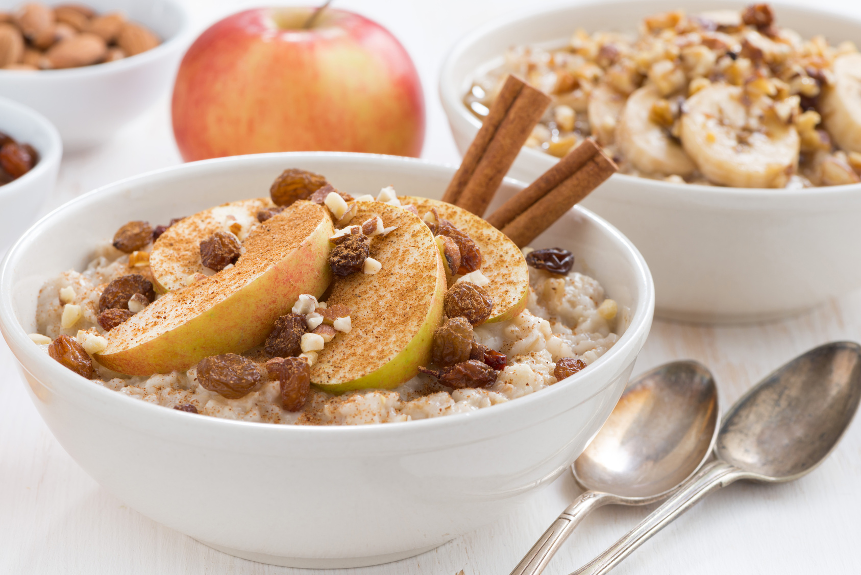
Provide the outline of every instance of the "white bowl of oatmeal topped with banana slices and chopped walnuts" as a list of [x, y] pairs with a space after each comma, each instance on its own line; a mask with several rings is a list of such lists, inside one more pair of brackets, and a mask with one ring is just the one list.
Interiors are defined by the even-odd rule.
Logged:
[[861, 286], [839, 264], [861, 241], [859, 32], [722, 0], [532, 10], [464, 38], [440, 93], [462, 151], [504, 73], [548, 91], [509, 175], [530, 181], [597, 139], [620, 173], [584, 205], [641, 249], [657, 313], [759, 321]]

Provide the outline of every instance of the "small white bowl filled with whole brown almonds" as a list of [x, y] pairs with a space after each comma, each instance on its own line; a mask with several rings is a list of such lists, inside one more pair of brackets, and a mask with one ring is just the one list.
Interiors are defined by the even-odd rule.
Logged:
[[0, 96], [45, 115], [67, 149], [94, 146], [170, 88], [188, 32], [174, 0], [3, 0]]

